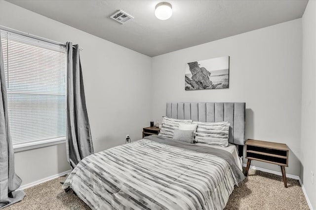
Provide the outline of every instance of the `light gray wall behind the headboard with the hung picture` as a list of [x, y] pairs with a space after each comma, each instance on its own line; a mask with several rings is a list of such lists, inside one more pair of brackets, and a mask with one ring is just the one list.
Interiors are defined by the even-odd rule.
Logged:
[[[286, 172], [300, 174], [301, 19], [182, 49], [153, 58], [154, 120], [166, 102], [245, 102], [246, 138], [286, 143]], [[185, 64], [230, 56], [230, 88], [184, 90]], [[280, 171], [253, 161], [252, 165]]]

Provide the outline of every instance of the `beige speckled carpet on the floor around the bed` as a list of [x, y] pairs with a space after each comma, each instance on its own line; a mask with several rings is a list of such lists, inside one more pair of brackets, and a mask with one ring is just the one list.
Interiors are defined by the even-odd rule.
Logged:
[[[63, 177], [25, 190], [23, 201], [4, 210], [87, 210], [72, 191], [65, 193], [59, 183]], [[249, 170], [248, 177], [235, 186], [225, 210], [309, 210], [298, 180]]]

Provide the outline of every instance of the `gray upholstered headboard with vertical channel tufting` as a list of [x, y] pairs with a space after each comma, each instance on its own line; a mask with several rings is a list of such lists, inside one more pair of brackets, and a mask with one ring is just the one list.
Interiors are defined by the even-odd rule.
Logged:
[[167, 103], [166, 116], [200, 122], [227, 121], [231, 124], [228, 141], [244, 145], [245, 105], [245, 103]]

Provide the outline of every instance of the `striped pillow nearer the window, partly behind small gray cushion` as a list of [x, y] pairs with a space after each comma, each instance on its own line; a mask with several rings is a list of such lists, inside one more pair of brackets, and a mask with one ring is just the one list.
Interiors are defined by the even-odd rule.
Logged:
[[180, 123], [192, 123], [192, 120], [179, 120], [169, 117], [162, 118], [162, 125], [158, 136], [173, 139], [174, 129], [179, 128]]

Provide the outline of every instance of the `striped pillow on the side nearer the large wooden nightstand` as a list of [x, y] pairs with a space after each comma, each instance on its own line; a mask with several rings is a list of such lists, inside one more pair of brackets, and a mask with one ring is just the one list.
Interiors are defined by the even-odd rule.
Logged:
[[195, 141], [218, 146], [228, 146], [229, 122], [193, 122], [197, 124]]

